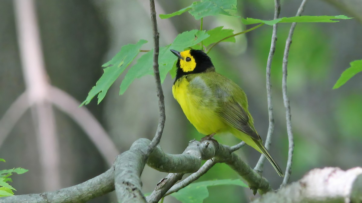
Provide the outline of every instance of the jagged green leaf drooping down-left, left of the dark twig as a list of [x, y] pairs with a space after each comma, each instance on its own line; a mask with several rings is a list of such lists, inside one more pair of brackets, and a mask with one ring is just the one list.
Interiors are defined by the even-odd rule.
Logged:
[[97, 81], [96, 86], [89, 91], [87, 99], [81, 105], [88, 104], [98, 93], [98, 104], [104, 99], [109, 87], [114, 81], [122, 74], [123, 70], [134, 60], [138, 55], [139, 49], [143, 44], [147, 43], [146, 40], [141, 39], [136, 44], [127, 44], [121, 48], [121, 51], [117, 53], [107, 63], [102, 65], [104, 67], [104, 73]]

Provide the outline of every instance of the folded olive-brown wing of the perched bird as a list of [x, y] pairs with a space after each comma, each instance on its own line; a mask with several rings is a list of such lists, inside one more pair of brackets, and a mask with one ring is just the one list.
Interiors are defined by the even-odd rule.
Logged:
[[215, 84], [213, 88], [219, 102], [218, 113], [220, 117], [227, 124], [251, 136], [254, 140], [261, 140], [252, 127], [253, 121], [247, 110], [248, 101], [244, 91], [227, 78], [223, 81], [222, 85]]

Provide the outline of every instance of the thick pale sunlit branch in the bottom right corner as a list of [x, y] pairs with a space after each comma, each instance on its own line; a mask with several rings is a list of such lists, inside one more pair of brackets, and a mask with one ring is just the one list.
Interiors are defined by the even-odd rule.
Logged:
[[[253, 203], [361, 202], [362, 168], [313, 169], [302, 179], [276, 193], [266, 193]], [[359, 191], [358, 191], [359, 190]]]

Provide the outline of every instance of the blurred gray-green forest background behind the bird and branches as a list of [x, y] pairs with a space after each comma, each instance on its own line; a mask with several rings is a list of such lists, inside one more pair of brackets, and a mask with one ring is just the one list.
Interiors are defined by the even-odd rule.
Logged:
[[[158, 14], [172, 13], [193, 1], [156, 1]], [[297, 0], [282, 1], [281, 17], [294, 16]], [[128, 43], [149, 41], [143, 48], [152, 48], [152, 28], [148, 1], [47, 1], [37, 0], [37, 13], [45, 55], [45, 64], [52, 85], [61, 88], [79, 101], [102, 74], [101, 65], [109, 61]], [[238, 0], [242, 17], [269, 20], [273, 18], [271, 0]], [[346, 14], [342, 8], [325, 1], [309, 1], [303, 15]], [[350, 16], [353, 17], [353, 16]], [[0, 116], [24, 90], [12, 1], [0, 0]], [[178, 33], [199, 29], [199, 21], [188, 14], [168, 20], [158, 18], [160, 46], [173, 41]], [[236, 32], [248, 29], [237, 18], [216, 16], [204, 18], [203, 28], [224, 26]], [[280, 24], [272, 64], [272, 98], [275, 131], [271, 154], [282, 168], [286, 166], [288, 141], [285, 109], [282, 102], [282, 56], [290, 24]], [[236, 43], [221, 43], [210, 56], [216, 71], [243, 87], [249, 99], [249, 111], [258, 133], [265, 139], [268, 111], [265, 90], [265, 67], [270, 49], [271, 26], [262, 26], [236, 37]], [[316, 167], [348, 169], [362, 163], [362, 75], [355, 75], [344, 86], [332, 90], [349, 62], [362, 59], [362, 26], [357, 19], [337, 23], [299, 23], [293, 36], [288, 65], [288, 92], [291, 103], [295, 152], [291, 181], [300, 179]], [[176, 59], [175, 59], [176, 60]], [[118, 149], [126, 151], [138, 138], [152, 138], [157, 127], [158, 108], [153, 77], [136, 79], [124, 95], [118, 96], [124, 74], [111, 86], [103, 102], [93, 100], [87, 108], [106, 128]], [[165, 152], [181, 153], [190, 139], [200, 139], [172, 97], [173, 79], [163, 83], [167, 120], [160, 146]], [[108, 166], [87, 135], [68, 116], [56, 111], [60, 144], [62, 186], [75, 185], [104, 172]], [[43, 187], [37, 143], [27, 112], [0, 147], [0, 157], [7, 160], [1, 168], [22, 167], [28, 173], [14, 176], [15, 194], [40, 193]], [[236, 144], [236, 138], [216, 137], [219, 142]], [[260, 154], [251, 147], [238, 151], [253, 167]], [[142, 174], [143, 190], [150, 192], [166, 174], [146, 167]], [[274, 189], [282, 182], [269, 163], [263, 175]], [[225, 164], [215, 165], [200, 180], [236, 179], [239, 176]], [[214, 186], [205, 202], [248, 202], [249, 189], [237, 186]], [[240, 199], [242, 201], [240, 201]], [[92, 202], [111, 202], [112, 194]], [[177, 202], [168, 197], [165, 202]]]

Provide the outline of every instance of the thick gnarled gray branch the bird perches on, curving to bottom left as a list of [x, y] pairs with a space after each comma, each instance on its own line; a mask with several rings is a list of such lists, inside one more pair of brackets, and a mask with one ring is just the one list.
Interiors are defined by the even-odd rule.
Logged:
[[[146, 151], [150, 143], [148, 139], [138, 139], [130, 150], [115, 159], [109, 170], [86, 182], [52, 192], [4, 197], [0, 198], [0, 202], [87, 202], [114, 189], [118, 202], [146, 202], [141, 191], [140, 174], [146, 164]], [[261, 193], [271, 190], [269, 182], [245, 164], [229, 146], [207, 140], [191, 141], [180, 155], [166, 154], [160, 147], [150, 154], [147, 163], [151, 167], [171, 173], [157, 184], [156, 190], [148, 196], [148, 202], [158, 202], [184, 173], [195, 172], [200, 167], [201, 160], [211, 159], [213, 156], [216, 163], [225, 162], [236, 170], [249, 182], [251, 188], [259, 189]], [[177, 168], [168, 167], [172, 164], [177, 165]], [[173, 173], [180, 171], [182, 173]]]

